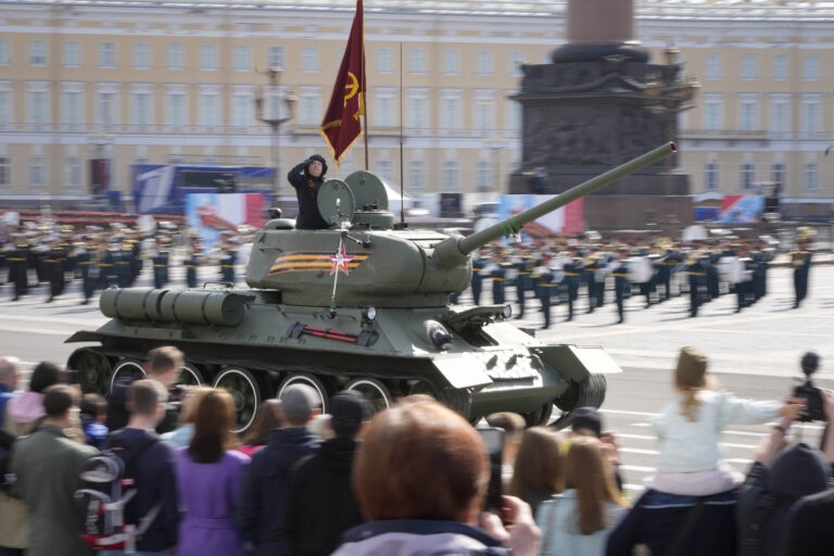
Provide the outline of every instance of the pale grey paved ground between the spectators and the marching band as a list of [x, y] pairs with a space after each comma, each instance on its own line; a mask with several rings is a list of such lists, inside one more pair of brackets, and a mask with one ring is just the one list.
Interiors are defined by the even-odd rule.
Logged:
[[[179, 274], [173, 274], [175, 282], [181, 282]], [[149, 285], [149, 278], [146, 275], [141, 285]], [[623, 368], [623, 372], [608, 376], [605, 426], [619, 434], [623, 475], [629, 489], [637, 491], [657, 459], [648, 424], [673, 395], [671, 369], [682, 346], [696, 345], [705, 351], [720, 384], [740, 396], [784, 397], [801, 377], [798, 362], [808, 350], [822, 357], [817, 382], [834, 388], [833, 278], [834, 267], [812, 268], [809, 298], [798, 309], [791, 308], [791, 271], [785, 268], [771, 270], [768, 296], [741, 314], [735, 313], [732, 295], [709, 303], [696, 318], [688, 318], [684, 298], [648, 309], [642, 308], [643, 298], [634, 298], [628, 301], [623, 325], [612, 324], [616, 311], [610, 293], [608, 304], [593, 314], [584, 313], [587, 303], [581, 298], [573, 321], [564, 323], [566, 309], [556, 306], [554, 327], [538, 336], [554, 342], [603, 345]], [[106, 320], [99, 314], [98, 304], [79, 305], [78, 289], [79, 283], [74, 281], [68, 293], [46, 304], [46, 285], [15, 303], [8, 301], [11, 285], [0, 287], [0, 354], [16, 355], [29, 368], [45, 359], [64, 363], [79, 344], [63, 341], [76, 330], [91, 330]], [[463, 301], [467, 299], [465, 294]], [[536, 328], [541, 324], [538, 303], [528, 303], [528, 318], [518, 324]], [[764, 426], [731, 427], [722, 438], [725, 457], [746, 470], [767, 430]], [[795, 437], [817, 444], [822, 426], [814, 422], [794, 430]]]

